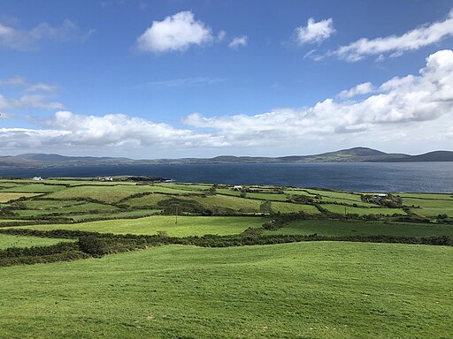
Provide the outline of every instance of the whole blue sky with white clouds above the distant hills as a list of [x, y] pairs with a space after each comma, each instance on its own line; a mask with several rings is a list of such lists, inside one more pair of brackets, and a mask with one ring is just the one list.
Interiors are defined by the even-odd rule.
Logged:
[[0, 0], [0, 155], [453, 150], [453, 1]]

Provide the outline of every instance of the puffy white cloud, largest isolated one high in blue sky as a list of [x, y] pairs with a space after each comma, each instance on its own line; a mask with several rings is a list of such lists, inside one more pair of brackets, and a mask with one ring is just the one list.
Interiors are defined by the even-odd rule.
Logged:
[[[225, 34], [220, 33], [219, 36]], [[138, 49], [164, 53], [183, 51], [192, 45], [202, 46], [214, 40], [211, 28], [197, 21], [191, 11], [180, 11], [163, 21], [153, 21], [138, 39]]]

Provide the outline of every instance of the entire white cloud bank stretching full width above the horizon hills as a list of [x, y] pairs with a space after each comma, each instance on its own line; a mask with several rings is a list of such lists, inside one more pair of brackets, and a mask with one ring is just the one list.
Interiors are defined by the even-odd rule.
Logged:
[[[16, 84], [3, 81], [25, 89], [36, 86], [26, 79]], [[40, 87], [45, 91], [44, 85]], [[451, 145], [453, 51], [439, 50], [426, 57], [426, 65], [417, 75], [395, 77], [376, 85], [358, 84], [310, 107], [273, 109], [257, 115], [193, 113], [182, 118], [183, 128], [126, 114], [74, 114], [63, 110], [60, 102], [47, 101], [42, 94], [0, 96], [0, 112], [19, 107], [58, 111], [51, 117], [27, 117], [35, 128], [0, 128], [0, 147], [5, 152], [54, 150], [58, 146], [70, 152], [115, 147], [117, 154], [140, 153], [153, 147], [170, 153], [174, 149], [200, 148], [225, 153], [231, 149], [272, 147], [284, 154], [295, 144], [337, 144], [351, 136], [356, 146], [370, 145], [372, 140], [389, 147], [414, 138], [432, 145], [449, 141]], [[2, 120], [7, 121], [8, 116]]]

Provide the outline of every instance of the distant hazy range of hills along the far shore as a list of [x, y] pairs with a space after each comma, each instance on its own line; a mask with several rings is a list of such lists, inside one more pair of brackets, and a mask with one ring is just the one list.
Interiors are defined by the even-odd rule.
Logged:
[[290, 155], [280, 157], [220, 155], [214, 158], [133, 160], [128, 158], [65, 156], [59, 154], [19, 154], [15, 156], [0, 156], [0, 166], [22, 168], [127, 164], [272, 162], [453, 162], [453, 152], [434, 151], [426, 154], [409, 155], [385, 153], [367, 147], [354, 147], [323, 154]]

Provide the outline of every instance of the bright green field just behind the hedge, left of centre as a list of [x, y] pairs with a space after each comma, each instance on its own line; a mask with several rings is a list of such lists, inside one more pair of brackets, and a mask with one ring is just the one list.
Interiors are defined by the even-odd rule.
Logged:
[[206, 234], [238, 234], [250, 227], [261, 227], [263, 222], [260, 217], [178, 216], [178, 223], [176, 223], [174, 215], [153, 215], [140, 219], [21, 227], [34, 230], [88, 230], [117, 234], [157, 234], [157, 231], [165, 230], [172, 237], [188, 237]]

